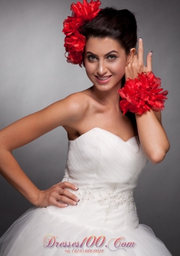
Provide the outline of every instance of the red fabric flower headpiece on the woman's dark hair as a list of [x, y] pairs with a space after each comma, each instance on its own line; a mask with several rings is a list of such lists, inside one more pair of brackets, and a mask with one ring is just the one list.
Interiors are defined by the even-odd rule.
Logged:
[[85, 37], [80, 33], [80, 28], [85, 21], [91, 21], [100, 12], [99, 6], [101, 2], [99, 0], [87, 3], [87, 0], [83, 0], [83, 4], [77, 2], [71, 5], [73, 11], [72, 16], [68, 16], [64, 20], [65, 33], [64, 47], [66, 48], [67, 62], [72, 64], [79, 64], [82, 67], [82, 54], [84, 52]]

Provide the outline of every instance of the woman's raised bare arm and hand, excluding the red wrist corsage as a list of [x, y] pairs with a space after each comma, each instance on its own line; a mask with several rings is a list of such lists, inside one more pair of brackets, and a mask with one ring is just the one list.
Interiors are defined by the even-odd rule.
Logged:
[[[147, 67], [143, 64], [143, 41], [140, 38], [138, 44], [138, 54], [132, 56], [126, 67], [125, 78], [134, 79], [138, 73], [152, 71], [152, 51], [147, 55]], [[140, 137], [141, 147], [147, 158], [152, 163], [163, 161], [170, 143], [167, 134], [161, 123], [161, 111], [156, 112], [150, 109], [143, 114], [135, 114]]]

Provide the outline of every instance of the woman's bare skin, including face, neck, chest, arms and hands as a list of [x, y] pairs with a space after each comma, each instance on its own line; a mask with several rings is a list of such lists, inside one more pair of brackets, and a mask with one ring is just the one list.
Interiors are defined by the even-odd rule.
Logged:
[[[76, 205], [78, 198], [66, 190], [76, 190], [75, 185], [59, 182], [47, 190], [39, 190], [24, 174], [13, 158], [12, 151], [32, 142], [58, 126], [64, 127], [69, 140], [75, 140], [94, 127], [100, 127], [125, 142], [134, 136], [131, 121], [120, 112], [118, 89], [122, 77], [137, 77], [138, 73], [152, 71], [152, 53], [143, 64], [143, 41], [138, 41], [138, 54], [132, 48], [128, 55], [118, 41], [108, 37], [90, 38], [85, 45], [84, 66], [93, 86], [67, 96], [36, 113], [21, 118], [0, 131], [0, 170], [28, 201], [37, 207], [55, 205], [63, 208]], [[110, 77], [102, 84], [102, 78]], [[163, 161], [170, 143], [161, 123], [161, 112], [147, 111], [136, 114], [140, 143], [152, 163]], [[63, 201], [60, 203], [58, 201]]]

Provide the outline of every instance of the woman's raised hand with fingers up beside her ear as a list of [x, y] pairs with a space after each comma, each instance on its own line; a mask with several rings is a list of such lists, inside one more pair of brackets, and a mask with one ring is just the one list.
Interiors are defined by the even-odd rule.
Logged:
[[[132, 51], [134, 51], [135, 48], [132, 48]], [[129, 55], [129, 64], [125, 68], [125, 80], [127, 78], [137, 78], [138, 73], [142, 72], [149, 72], [152, 71], [152, 51], [150, 51], [147, 55], [147, 66], [144, 65], [143, 62], [143, 40], [139, 39], [138, 41], [138, 53], [132, 55], [132, 53]]]

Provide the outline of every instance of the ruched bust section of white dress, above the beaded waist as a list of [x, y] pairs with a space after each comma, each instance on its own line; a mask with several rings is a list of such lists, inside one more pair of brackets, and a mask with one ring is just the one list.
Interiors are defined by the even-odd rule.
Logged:
[[118, 183], [120, 190], [134, 188], [148, 161], [135, 137], [124, 142], [98, 127], [69, 141], [68, 148], [64, 178], [79, 185], [88, 181], [93, 187]]

